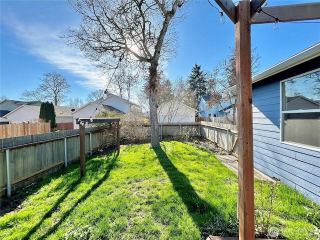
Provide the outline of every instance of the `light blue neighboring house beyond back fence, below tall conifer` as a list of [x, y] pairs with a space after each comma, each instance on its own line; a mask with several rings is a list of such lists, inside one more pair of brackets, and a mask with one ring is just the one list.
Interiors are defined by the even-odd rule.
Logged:
[[221, 105], [219, 103], [216, 103], [214, 106], [209, 108], [208, 102], [210, 100], [209, 95], [203, 95], [200, 97], [199, 101], [199, 117], [216, 117], [216, 116], [225, 116], [221, 105], [223, 109], [226, 112], [227, 116], [231, 116], [233, 114], [233, 107], [229, 103], [221, 102]]

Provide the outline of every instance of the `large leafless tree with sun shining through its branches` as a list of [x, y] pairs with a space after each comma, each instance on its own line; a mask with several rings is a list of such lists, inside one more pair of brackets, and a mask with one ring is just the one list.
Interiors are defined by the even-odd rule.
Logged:
[[148, 70], [151, 145], [159, 145], [156, 75], [159, 61], [175, 53], [173, 23], [186, 0], [69, 0], [82, 16], [66, 37], [104, 72], [118, 61], [124, 67]]

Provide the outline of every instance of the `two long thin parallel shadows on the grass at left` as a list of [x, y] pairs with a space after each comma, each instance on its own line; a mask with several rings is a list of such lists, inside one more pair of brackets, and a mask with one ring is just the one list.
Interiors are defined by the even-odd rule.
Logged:
[[[111, 155], [111, 153], [109, 155]], [[101, 177], [101, 179], [99, 179], [96, 183], [94, 183], [91, 186], [91, 188], [88, 189], [87, 192], [84, 195], [82, 195], [82, 197], [80, 197], [67, 211], [65, 211], [63, 213], [63, 215], [59, 218], [59, 220], [57, 222], [55, 222], [55, 224], [52, 225], [52, 227], [50, 229], [48, 229], [46, 231], [46, 233], [41, 236], [41, 238], [46, 238], [48, 235], [53, 233], [57, 229], [57, 227], [64, 221], [64, 219], [70, 214], [70, 212], [77, 206], [77, 204], [79, 204], [81, 201], [84, 201], [92, 193], [92, 191], [94, 191], [97, 187], [99, 187], [102, 184], [102, 182], [105, 181], [108, 178], [109, 173], [112, 170], [112, 168], [114, 166], [114, 162], [117, 159], [118, 155], [119, 155], [118, 152], [117, 153], [113, 152], [113, 158], [112, 158], [111, 162], [109, 163], [109, 165], [108, 165], [108, 167], [106, 169], [106, 172]], [[99, 164], [99, 166], [100, 165], [101, 165], [101, 163]], [[97, 166], [95, 165], [94, 167], [96, 168]], [[86, 172], [86, 174], [88, 174], [88, 173], [89, 173], [89, 171]], [[75, 181], [73, 181], [71, 184], [69, 184], [68, 190], [57, 199], [55, 204], [43, 215], [42, 219], [35, 226], [33, 226], [24, 235], [24, 237], [22, 239], [29, 239], [29, 237], [37, 230], [37, 228], [43, 223], [43, 221], [52, 215], [52, 213], [58, 208], [59, 204], [67, 197], [67, 195], [70, 192], [74, 191], [76, 189], [77, 185], [79, 183], [81, 183], [81, 181], [83, 179], [85, 179], [85, 178], [81, 178], [80, 177], [80, 173], [79, 172], [78, 172], [78, 174], [79, 174], [78, 178]], [[64, 182], [64, 183], [66, 183], [66, 182]]]

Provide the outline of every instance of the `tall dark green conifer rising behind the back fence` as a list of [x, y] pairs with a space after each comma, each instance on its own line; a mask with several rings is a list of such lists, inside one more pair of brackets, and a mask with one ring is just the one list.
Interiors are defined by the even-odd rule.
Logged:
[[201, 70], [201, 65], [195, 63], [187, 82], [189, 83], [189, 90], [195, 94], [196, 101], [199, 102], [200, 97], [207, 94], [205, 73]]

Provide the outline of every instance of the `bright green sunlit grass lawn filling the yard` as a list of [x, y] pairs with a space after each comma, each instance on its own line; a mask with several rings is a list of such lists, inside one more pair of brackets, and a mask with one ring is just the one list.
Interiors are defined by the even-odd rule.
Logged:
[[[237, 176], [209, 151], [182, 142], [92, 156], [84, 177], [74, 163], [38, 185], [17, 210], [0, 217], [1, 239], [189, 240], [237, 234]], [[266, 195], [268, 190], [263, 187]], [[311, 213], [320, 207], [283, 184], [276, 194], [270, 222], [281, 237], [318, 239], [313, 224], [319, 216]]]

